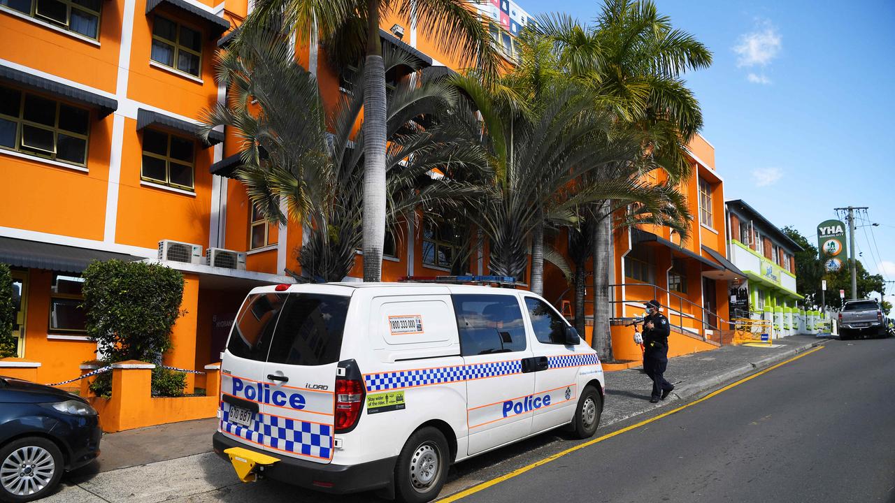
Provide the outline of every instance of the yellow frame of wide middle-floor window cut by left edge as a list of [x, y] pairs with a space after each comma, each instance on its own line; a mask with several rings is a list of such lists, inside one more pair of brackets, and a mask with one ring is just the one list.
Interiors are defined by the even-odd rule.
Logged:
[[[18, 152], [18, 153], [24, 154], [26, 156], [45, 158], [45, 159], [49, 159], [49, 160], [52, 160], [55, 162], [64, 163], [66, 165], [81, 166], [81, 167], [85, 167], [85, 168], [87, 167], [87, 162], [90, 158], [90, 129], [91, 129], [91, 126], [93, 125], [93, 115], [91, 113], [90, 108], [78, 107], [76, 105], [70, 105], [60, 99], [50, 98], [50, 97], [47, 97], [44, 95], [40, 95], [40, 94], [33, 93], [33, 92], [30, 92], [27, 90], [23, 90], [21, 88], [5, 86], [5, 85], [0, 85], [0, 87], [3, 87], [8, 90], [17, 91], [17, 92], [19, 92], [19, 95], [20, 95], [19, 96], [19, 115], [17, 117], [13, 116], [13, 115], [6, 115], [6, 114], [0, 112], [0, 119], [4, 119], [6, 121], [9, 121], [9, 122], [12, 122], [15, 124], [15, 140], [14, 140], [15, 146], [13, 148], [10, 148], [10, 147], [6, 147], [4, 145], [0, 145], [0, 149], [6, 150], [6, 151]], [[55, 105], [54, 121], [53, 121], [52, 126], [49, 126], [47, 124], [36, 123], [34, 121], [30, 121], [25, 118], [25, 99], [28, 98], [29, 96], [32, 96], [34, 98], [39, 98], [39, 99], [45, 99], [47, 101], [51, 101], [54, 103], [54, 105]], [[87, 134], [83, 134], [81, 132], [73, 132], [73, 131], [69, 131], [66, 129], [61, 129], [59, 127], [59, 115], [60, 115], [60, 111], [63, 106], [69, 107], [69, 108], [74, 108], [76, 110], [81, 110], [82, 112], [87, 113]], [[29, 127], [41, 129], [44, 131], [53, 132], [53, 151], [51, 152], [49, 150], [37, 149], [34, 147], [26, 146], [23, 143], [23, 141], [24, 141], [24, 131], [23, 131], [24, 126], [29, 126]], [[74, 162], [74, 161], [71, 161], [68, 159], [63, 159], [63, 158], [57, 157], [59, 154], [58, 144], [59, 144], [59, 134], [60, 133], [66, 135], [66, 136], [71, 136], [72, 138], [77, 138], [79, 140], [84, 141], [84, 162], [83, 163], [77, 163], [77, 162]]]

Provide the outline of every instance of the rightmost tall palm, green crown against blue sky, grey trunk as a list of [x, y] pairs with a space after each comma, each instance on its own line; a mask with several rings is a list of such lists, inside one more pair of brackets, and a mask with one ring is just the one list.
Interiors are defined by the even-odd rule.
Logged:
[[[680, 78], [707, 67], [712, 53], [692, 35], [675, 30], [649, 0], [605, 0], [592, 25], [564, 14], [541, 16], [541, 34], [550, 38], [564, 74], [594, 90], [596, 104], [650, 132], [644, 151], [660, 159], [677, 183], [689, 173], [686, 143], [703, 125], [693, 93]], [[612, 358], [609, 334], [609, 253], [612, 213], [618, 205], [596, 203], [601, 226], [593, 227], [593, 346]]]

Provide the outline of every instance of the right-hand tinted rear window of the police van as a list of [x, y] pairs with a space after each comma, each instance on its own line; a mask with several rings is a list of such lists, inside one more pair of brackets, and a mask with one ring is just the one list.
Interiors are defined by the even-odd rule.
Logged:
[[325, 365], [338, 362], [350, 297], [290, 294], [277, 323], [268, 362]]

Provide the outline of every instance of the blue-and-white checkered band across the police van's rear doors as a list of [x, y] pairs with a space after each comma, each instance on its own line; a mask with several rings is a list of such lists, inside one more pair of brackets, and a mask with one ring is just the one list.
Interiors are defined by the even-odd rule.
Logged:
[[299, 456], [332, 459], [333, 427], [328, 424], [256, 413], [249, 429], [230, 422], [228, 409], [228, 406], [223, 408], [221, 430], [231, 435]]

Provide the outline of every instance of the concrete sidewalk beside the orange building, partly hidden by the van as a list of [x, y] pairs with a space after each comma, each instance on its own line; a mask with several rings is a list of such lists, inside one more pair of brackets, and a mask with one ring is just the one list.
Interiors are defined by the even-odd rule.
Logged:
[[[793, 336], [775, 340], [773, 347], [731, 345], [672, 358], [665, 376], [675, 383], [676, 388], [659, 404], [649, 402], [652, 383], [639, 368], [609, 372], [606, 374], [606, 405], [597, 434], [611, 430], [614, 423], [707, 393], [725, 382], [769, 367], [823, 342], [825, 339], [818, 337]], [[320, 502], [372, 499], [371, 494], [328, 497], [278, 483], [241, 484], [236, 480], [233, 468], [210, 452], [216, 423], [217, 420], [212, 418], [107, 434], [102, 440], [102, 456], [98, 463], [67, 475], [61, 490], [46, 501], [196, 503], [247, 498], [276, 501], [282, 499], [281, 496], [294, 499], [298, 495], [303, 501]], [[561, 438], [544, 441], [546, 443], [541, 443], [541, 448], [549, 448], [554, 442], [564, 445], [568, 442]], [[499, 457], [504, 451], [504, 456], [509, 457], [512, 456], [510, 450], [514, 449], [500, 449], [490, 456]], [[454, 480], [449, 484], [452, 486], [449, 491], [453, 492], [467, 485], [467, 481]], [[259, 499], [262, 493], [265, 498]]]

